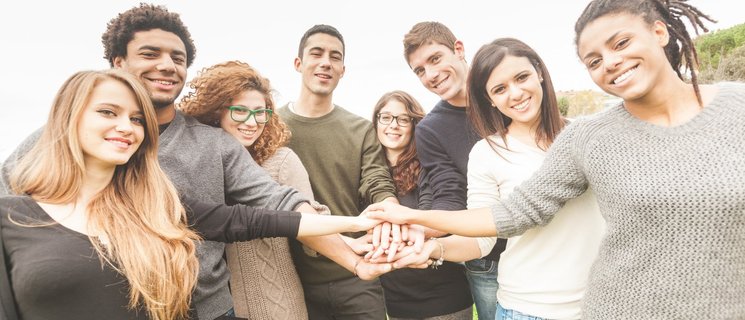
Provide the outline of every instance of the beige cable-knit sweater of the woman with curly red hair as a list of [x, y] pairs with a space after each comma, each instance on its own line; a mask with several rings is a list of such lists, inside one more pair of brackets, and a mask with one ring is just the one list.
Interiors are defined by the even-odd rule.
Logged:
[[[313, 198], [298, 156], [280, 148], [261, 165], [281, 185]], [[264, 238], [225, 246], [235, 313], [248, 319], [307, 319], [303, 288], [287, 238]]]

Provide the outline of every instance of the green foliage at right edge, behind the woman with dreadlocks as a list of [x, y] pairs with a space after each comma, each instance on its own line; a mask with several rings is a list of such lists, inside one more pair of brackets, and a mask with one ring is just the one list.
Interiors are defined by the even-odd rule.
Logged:
[[745, 45], [745, 23], [702, 35], [694, 41], [700, 69], [717, 69], [733, 49]]

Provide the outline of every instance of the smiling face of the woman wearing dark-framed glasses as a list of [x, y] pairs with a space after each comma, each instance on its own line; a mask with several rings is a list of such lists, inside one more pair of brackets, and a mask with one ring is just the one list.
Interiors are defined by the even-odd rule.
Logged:
[[[410, 116], [406, 112], [406, 106], [396, 99], [390, 99], [383, 108], [380, 109], [378, 114], [391, 115], [391, 116]], [[407, 126], [402, 127], [398, 124], [399, 119], [391, 121], [389, 124], [381, 124], [376, 122], [375, 127], [378, 135], [380, 144], [383, 145], [389, 152], [400, 154], [404, 151], [406, 146], [411, 142], [411, 130], [414, 123], [410, 122]]]

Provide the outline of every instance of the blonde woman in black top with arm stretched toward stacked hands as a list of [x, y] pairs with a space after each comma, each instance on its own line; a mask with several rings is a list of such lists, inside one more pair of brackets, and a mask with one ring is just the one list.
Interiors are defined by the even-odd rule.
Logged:
[[200, 236], [232, 242], [376, 224], [188, 199], [182, 206], [158, 164], [156, 124], [147, 91], [124, 71], [79, 72], [59, 90], [41, 139], [12, 171], [22, 196], [0, 197], [8, 270], [0, 276], [20, 318], [189, 318]]

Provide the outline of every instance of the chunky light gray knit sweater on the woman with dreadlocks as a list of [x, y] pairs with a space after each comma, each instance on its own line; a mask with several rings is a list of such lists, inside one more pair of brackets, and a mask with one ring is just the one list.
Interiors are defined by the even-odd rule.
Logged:
[[573, 122], [492, 207], [501, 237], [549, 223], [588, 187], [607, 234], [583, 319], [745, 318], [745, 85], [660, 127], [617, 106]]

